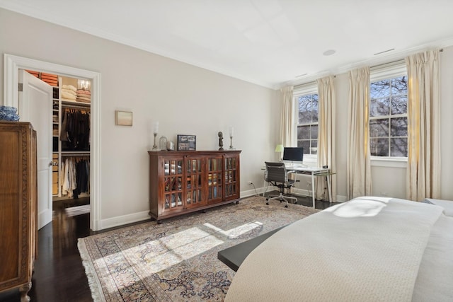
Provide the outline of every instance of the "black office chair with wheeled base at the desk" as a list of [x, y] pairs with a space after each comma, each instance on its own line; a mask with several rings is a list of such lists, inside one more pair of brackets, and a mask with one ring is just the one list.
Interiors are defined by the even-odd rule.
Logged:
[[[288, 173], [285, 167], [285, 163], [269, 163], [265, 162], [266, 164], [266, 171], [264, 174], [264, 179], [266, 182], [269, 182], [271, 185], [278, 187], [280, 190], [280, 194], [276, 195], [275, 197], [271, 197], [268, 195], [266, 197], [266, 204], [269, 204], [269, 200], [271, 199], [279, 199], [280, 202], [285, 201], [286, 205], [285, 208], [288, 207], [288, 199], [294, 199], [294, 203], [297, 204], [297, 198], [292, 196], [284, 195], [283, 192], [285, 189], [291, 189], [294, 185], [294, 180], [288, 179]], [[299, 181], [299, 180], [297, 180]]]

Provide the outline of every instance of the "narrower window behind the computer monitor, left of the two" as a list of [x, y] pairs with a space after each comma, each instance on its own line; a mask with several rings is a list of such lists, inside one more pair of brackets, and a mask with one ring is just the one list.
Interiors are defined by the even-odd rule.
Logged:
[[297, 146], [304, 154], [318, 153], [318, 90], [316, 83], [294, 88], [297, 107]]

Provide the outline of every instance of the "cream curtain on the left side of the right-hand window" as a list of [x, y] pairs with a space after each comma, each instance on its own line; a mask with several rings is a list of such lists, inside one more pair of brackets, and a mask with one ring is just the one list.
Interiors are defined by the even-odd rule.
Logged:
[[348, 198], [371, 195], [371, 163], [369, 151], [369, 67], [348, 72]]

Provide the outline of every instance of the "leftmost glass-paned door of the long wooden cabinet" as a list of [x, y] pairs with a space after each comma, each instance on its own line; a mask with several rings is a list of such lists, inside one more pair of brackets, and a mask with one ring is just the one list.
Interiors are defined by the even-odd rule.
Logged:
[[164, 210], [183, 209], [183, 160], [164, 159]]

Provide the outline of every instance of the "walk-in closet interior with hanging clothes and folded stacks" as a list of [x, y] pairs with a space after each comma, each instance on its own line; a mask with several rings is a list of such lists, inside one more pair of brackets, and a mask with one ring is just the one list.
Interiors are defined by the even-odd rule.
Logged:
[[91, 81], [28, 72], [53, 90], [53, 228], [65, 236], [73, 227], [72, 218], [90, 211]]

